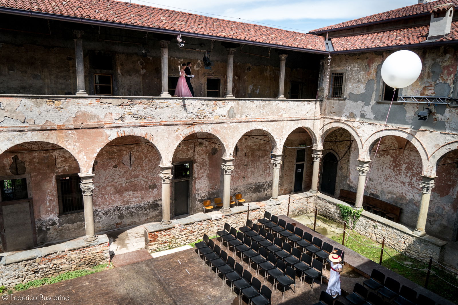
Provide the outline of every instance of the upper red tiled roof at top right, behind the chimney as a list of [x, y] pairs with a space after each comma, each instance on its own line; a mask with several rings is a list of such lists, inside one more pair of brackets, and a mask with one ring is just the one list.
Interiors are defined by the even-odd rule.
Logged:
[[399, 9], [392, 10], [392, 11], [386, 11], [383, 13], [378, 13], [378, 14], [363, 17], [363, 18], [341, 22], [341, 23], [334, 24], [329, 27], [322, 27], [322, 28], [319, 28], [319, 29], [316, 29], [310, 32], [326, 32], [330, 30], [343, 28], [343, 27], [364, 25], [365, 23], [370, 23], [370, 22], [385, 21], [385, 20], [389, 21], [390, 19], [393, 19], [393, 18], [413, 16], [413, 15], [418, 15], [421, 13], [431, 13], [434, 6], [448, 4], [448, 3], [452, 4], [454, 7], [458, 7], [458, 0], [436, 0], [436, 1], [431, 1], [428, 3], [409, 5], [409, 6], [401, 7]]

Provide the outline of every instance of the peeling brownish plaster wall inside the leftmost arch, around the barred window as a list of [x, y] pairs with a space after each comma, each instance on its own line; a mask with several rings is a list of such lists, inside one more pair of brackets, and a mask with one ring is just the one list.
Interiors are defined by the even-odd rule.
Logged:
[[15, 155], [23, 162], [23, 174], [30, 175], [28, 193], [33, 198], [38, 244], [83, 235], [82, 213], [60, 216], [57, 198], [56, 175], [78, 173], [75, 158], [55, 144], [26, 142], [0, 155], [0, 177], [14, 179], [9, 169]]

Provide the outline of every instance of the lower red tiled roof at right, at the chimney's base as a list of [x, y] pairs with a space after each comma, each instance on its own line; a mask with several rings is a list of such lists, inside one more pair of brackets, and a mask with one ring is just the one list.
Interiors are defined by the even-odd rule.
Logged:
[[[428, 38], [429, 25], [409, 27], [393, 31], [376, 32], [347, 37], [332, 38], [335, 51], [347, 51], [366, 48], [393, 47], [421, 43]], [[458, 39], [458, 21], [452, 22], [451, 32], [434, 41]]]

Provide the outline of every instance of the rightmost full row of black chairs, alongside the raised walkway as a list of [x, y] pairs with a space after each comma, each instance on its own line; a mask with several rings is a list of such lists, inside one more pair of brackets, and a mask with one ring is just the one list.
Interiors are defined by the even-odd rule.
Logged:
[[[250, 224], [250, 220], [247, 220], [247, 226]], [[269, 212], [264, 212], [264, 218], [258, 219], [258, 222], [262, 226], [267, 227], [271, 232], [275, 232], [277, 237], [284, 237], [285, 240], [289, 240], [294, 243], [294, 247], [300, 246], [303, 252], [311, 252], [312, 258], [319, 257], [322, 262], [326, 265], [329, 261], [328, 256], [334, 250], [333, 246], [327, 242], [323, 242], [319, 237], [311, 235], [311, 233], [302, 230], [299, 227], [295, 227], [291, 223], [287, 223], [284, 219], [279, 219], [278, 216], [272, 215]], [[252, 223], [252, 222], [251, 222]], [[255, 225], [253, 225], [256, 228]], [[255, 230], [255, 229], [253, 229]], [[335, 248], [337, 254], [344, 260], [345, 252]]]

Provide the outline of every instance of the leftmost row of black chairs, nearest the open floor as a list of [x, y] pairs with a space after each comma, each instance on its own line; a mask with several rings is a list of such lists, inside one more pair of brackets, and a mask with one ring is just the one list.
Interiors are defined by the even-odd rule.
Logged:
[[[272, 290], [261, 281], [252, 277], [251, 273], [242, 267], [235, 259], [228, 256], [227, 252], [221, 250], [210, 240], [208, 235], [203, 235], [203, 241], [195, 244], [196, 253], [202, 256], [204, 264], [208, 261], [210, 269], [215, 268], [216, 277], [223, 276], [223, 285], [226, 281], [231, 283], [231, 290], [239, 290], [239, 304], [242, 296], [245, 296], [249, 304], [269, 305], [271, 304]], [[262, 285], [262, 287], [261, 287]]]

